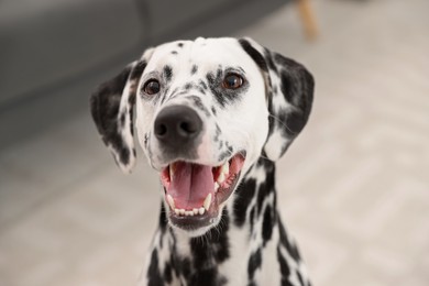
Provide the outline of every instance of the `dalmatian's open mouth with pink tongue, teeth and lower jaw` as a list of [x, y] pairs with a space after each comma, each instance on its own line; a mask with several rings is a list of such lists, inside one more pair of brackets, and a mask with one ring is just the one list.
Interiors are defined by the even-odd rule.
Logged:
[[213, 222], [221, 206], [232, 194], [244, 164], [242, 154], [221, 166], [177, 161], [161, 173], [165, 200], [173, 224], [195, 230]]

